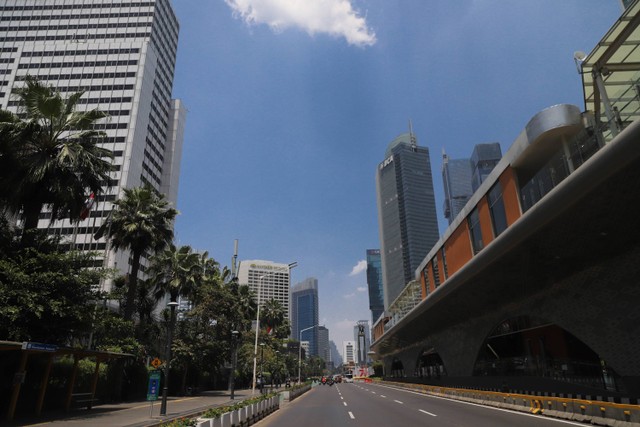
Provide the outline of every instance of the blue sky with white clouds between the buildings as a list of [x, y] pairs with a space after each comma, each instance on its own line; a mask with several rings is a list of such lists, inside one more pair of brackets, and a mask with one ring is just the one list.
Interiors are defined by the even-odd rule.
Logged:
[[583, 108], [573, 62], [617, 0], [173, 0], [174, 97], [188, 108], [179, 244], [298, 262], [319, 281], [341, 349], [369, 320], [379, 247], [375, 169], [413, 123], [429, 147], [441, 232], [441, 153], [503, 152], [541, 109]]

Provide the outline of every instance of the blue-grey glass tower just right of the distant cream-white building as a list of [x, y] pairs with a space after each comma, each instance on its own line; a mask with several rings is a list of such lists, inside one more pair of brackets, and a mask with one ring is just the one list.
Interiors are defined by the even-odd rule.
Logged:
[[[318, 279], [309, 277], [291, 289], [291, 338], [300, 339], [300, 331], [318, 324]], [[318, 328], [302, 332], [309, 341], [311, 356], [318, 356]]]

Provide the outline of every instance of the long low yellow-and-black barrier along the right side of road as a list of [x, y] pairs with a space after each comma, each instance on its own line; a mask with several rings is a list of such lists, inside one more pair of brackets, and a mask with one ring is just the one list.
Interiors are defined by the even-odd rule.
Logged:
[[411, 389], [433, 396], [596, 425], [618, 425], [615, 424], [616, 422], [640, 425], [640, 405], [555, 396], [533, 396], [496, 391], [467, 390], [392, 381], [382, 381], [380, 384]]

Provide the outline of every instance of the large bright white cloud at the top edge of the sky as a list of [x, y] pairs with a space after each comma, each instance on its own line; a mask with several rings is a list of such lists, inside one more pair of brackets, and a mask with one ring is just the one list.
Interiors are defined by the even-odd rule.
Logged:
[[351, 0], [224, 0], [248, 24], [267, 24], [275, 31], [295, 27], [313, 35], [344, 37], [355, 46], [376, 42]]

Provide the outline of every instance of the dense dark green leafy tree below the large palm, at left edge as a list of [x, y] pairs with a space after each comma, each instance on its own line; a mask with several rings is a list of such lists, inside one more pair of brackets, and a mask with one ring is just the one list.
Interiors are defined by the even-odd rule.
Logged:
[[91, 329], [92, 290], [103, 275], [89, 269], [89, 253], [59, 252], [55, 242], [38, 240], [22, 248], [6, 242], [0, 251], [0, 339], [70, 343]]

